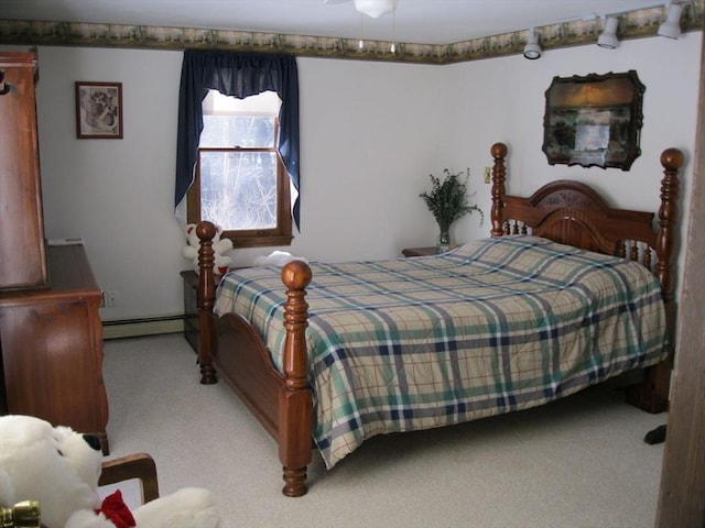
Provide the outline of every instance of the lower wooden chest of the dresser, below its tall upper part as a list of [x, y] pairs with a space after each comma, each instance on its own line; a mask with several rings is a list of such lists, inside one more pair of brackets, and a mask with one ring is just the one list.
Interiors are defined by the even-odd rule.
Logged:
[[0, 293], [7, 411], [96, 433], [107, 453], [101, 292], [83, 245], [47, 255], [48, 288]]

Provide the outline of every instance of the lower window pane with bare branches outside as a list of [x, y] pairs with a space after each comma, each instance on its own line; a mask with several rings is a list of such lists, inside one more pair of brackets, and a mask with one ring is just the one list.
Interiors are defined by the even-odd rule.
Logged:
[[225, 230], [276, 228], [274, 152], [200, 152], [200, 218]]

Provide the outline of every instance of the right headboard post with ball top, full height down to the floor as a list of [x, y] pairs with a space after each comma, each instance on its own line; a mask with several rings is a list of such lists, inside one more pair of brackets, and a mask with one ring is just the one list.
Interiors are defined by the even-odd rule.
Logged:
[[654, 273], [661, 283], [665, 304], [669, 336], [669, 356], [660, 364], [647, 370], [641, 385], [627, 393], [627, 400], [649, 413], [662, 413], [669, 406], [671, 369], [673, 367], [675, 340], [675, 299], [673, 297], [673, 238], [677, 216], [679, 170], [683, 165], [683, 153], [666, 148], [661, 154], [663, 179], [661, 179], [661, 207], [659, 208], [659, 232], [657, 234], [657, 264]]

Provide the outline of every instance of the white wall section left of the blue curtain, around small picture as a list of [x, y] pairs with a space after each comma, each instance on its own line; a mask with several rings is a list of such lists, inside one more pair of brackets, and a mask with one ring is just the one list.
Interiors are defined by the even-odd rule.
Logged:
[[[42, 47], [37, 85], [45, 234], [83, 237], [104, 319], [183, 311], [174, 220], [182, 54]], [[77, 140], [74, 81], [122, 82], [123, 139]]]

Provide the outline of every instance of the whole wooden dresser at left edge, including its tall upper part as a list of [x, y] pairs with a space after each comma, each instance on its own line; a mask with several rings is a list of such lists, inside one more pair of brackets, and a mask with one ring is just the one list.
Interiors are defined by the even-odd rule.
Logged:
[[107, 454], [101, 292], [83, 245], [44, 241], [36, 66], [33, 53], [0, 53], [0, 399], [98, 435]]

